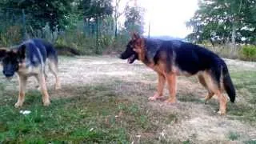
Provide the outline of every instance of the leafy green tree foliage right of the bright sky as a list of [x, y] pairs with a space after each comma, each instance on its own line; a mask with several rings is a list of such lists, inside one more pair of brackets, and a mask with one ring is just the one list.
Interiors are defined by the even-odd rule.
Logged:
[[[193, 27], [194, 35], [200, 36], [199, 41], [210, 38], [212, 32], [230, 38], [233, 31], [237, 40], [243, 36], [253, 43], [256, 34], [255, 3], [255, 0], [202, 0], [194, 17], [186, 24]], [[191, 38], [193, 35], [188, 36]]]

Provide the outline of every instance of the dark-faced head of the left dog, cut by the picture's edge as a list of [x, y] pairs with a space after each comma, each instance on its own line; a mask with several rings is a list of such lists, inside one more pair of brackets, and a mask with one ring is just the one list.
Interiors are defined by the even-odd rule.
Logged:
[[6, 50], [0, 49], [0, 60], [2, 64], [2, 73], [6, 78], [12, 78], [18, 71], [25, 59], [26, 46], [20, 46], [18, 49]]

